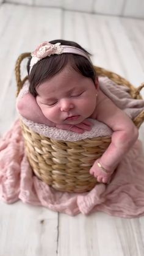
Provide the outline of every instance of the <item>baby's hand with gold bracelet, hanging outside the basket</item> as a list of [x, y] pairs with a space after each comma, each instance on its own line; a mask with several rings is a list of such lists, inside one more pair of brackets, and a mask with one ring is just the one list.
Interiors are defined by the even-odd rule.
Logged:
[[105, 172], [101, 167], [98, 166], [99, 161], [100, 159], [95, 161], [90, 169], [90, 174], [92, 174], [98, 180], [98, 182], [109, 183], [110, 177], [114, 170], [110, 170], [110, 172], [107, 170], [107, 172]]

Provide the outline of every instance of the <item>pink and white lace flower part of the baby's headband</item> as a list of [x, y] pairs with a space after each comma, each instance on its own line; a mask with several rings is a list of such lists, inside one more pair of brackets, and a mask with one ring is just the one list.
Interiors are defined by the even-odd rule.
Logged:
[[[55, 45], [52, 45], [49, 42], [43, 42], [41, 45], [38, 45], [38, 47], [35, 49], [35, 51], [32, 52], [31, 56], [31, 68], [41, 59], [51, 56], [52, 54], [61, 54], [63, 50], [63, 47], [60, 46], [60, 43], [56, 43]], [[30, 70], [31, 71], [31, 70]]]

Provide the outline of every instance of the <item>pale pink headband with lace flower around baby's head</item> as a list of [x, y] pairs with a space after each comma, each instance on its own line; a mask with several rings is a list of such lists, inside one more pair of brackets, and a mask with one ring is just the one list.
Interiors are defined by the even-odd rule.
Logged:
[[87, 53], [82, 51], [82, 49], [79, 49], [74, 46], [70, 45], [61, 45], [60, 43], [56, 43], [55, 45], [52, 45], [52, 43], [49, 42], [43, 42], [41, 45], [38, 45], [35, 51], [32, 52], [31, 56], [31, 62], [30, 62], [30, 71], [31, 73], [32, 67], [41, 59], [51, 56], [53, 54], [62, 54], [62, 53], [73, 53], [81, 55], [88, 60], [90, 60], [90, 57]]

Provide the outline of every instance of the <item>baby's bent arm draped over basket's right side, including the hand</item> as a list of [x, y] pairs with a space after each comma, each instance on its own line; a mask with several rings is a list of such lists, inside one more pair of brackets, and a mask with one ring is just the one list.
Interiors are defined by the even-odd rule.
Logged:
[[[93, 174], [96, 178], [98, 177], [99, 182], [106, 183], [123, 156], [137, 140], [139, 133], [128, 115], [117, 108], [103, 92], [101, 93], [102, 100], [96, 108], [96, 119], [112, 128], [113, 134], [109, 147], [101, 158], [95, 161], [90, 169], [90, 174]], [[106, 174], [101, 167], [99, 168], [98, 162], [109, 174]]]

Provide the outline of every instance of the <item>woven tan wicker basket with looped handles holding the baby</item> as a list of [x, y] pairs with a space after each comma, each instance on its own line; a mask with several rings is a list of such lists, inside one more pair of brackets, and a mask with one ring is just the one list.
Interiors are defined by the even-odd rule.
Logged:
[[[20, 73], [21, 61], [29, 57], [31, 53], [24, 53], [18, 57], [15, 66], [17, 95], [23, 87], [27, 76], [22, 80]], [[140, 90], [142, 86], [135, 89], [130, 82], [121, 76], [95, 67], [96, 73], [107, 76], [118, 85], [129, 87], [130, 95], [134, 99], [141, 99]], [[141, 112], [133, 122], [139, 128], [144, 120], [144, 111]], [[40, 180], [59, 191], [86, 192], [90, 191], [97, 183], [96, 178], [89, 174], [90, 167], [94, 161], [103, 155], [110, 144], [110, 137], [96, 137], [84, 139], [78, 142], [56, 141], [41, 136], [24, 125], [21, 120], [21, 128], [26, 145], [29, 163]]]

